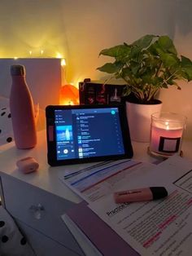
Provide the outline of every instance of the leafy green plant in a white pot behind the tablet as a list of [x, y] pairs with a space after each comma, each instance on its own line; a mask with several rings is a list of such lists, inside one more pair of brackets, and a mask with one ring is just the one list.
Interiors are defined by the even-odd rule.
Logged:
[[[110, 56], [115, 61], [97, 69], [111, 74], [109, 79], [123, 79], [126, 84], [124, 96], [128, 99], [126, 106], [131, 138], [149, 141], [151, 114], [158, 112], [162, 105], [157, 99], [157, 93], [160, 88], [169, 86], [177, 86], [181, 90], [178, 80], [191, 81], [191, 60], [177, 54], [176, 47], [168, 36], [151, 34], [132, 44], [124, 42], [104, 49], [99, 55]], [[139, 123], [139, 118], [142, 118], [142, 123]]]

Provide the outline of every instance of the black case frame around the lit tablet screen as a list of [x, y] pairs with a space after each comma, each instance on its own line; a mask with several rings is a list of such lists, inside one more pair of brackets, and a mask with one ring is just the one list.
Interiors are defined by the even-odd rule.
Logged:
[[[120, 115], [120, 126], [124, 143], [124, 154], [110, 155], [103, 157], [85, 157], [57, 160], [56, 152], [56, 131], [55, 131], [55, 110], [56, 109], [82, 109], [82, 108], [118, 108]], [[47, 161], [50, 166], [63, 166], [78, 163], [89, 163], [94, 161], [119, 160], [133, 157], [133, 147], [129, 135], [129, 124], [126, 118], [124, 104], [102, 104], [102, 105], [49, 105], [46, 107], [46, 141]]]

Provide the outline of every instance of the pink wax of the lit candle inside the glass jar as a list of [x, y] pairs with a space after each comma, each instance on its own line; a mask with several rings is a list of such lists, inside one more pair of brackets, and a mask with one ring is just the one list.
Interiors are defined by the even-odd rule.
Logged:
[[178, 152], [183, 133], [182, 127], [151, 127], [151, 145], [152, 152], [172, 154]]

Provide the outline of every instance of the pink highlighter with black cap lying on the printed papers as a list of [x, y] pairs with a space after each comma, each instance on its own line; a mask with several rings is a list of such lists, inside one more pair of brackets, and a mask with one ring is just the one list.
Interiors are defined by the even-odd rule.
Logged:
[[136, 201], [152, 201], [166, 196], [168, 196], [168, 192], [164, 187], [137, 188], [114, 193], [116, 204]]

